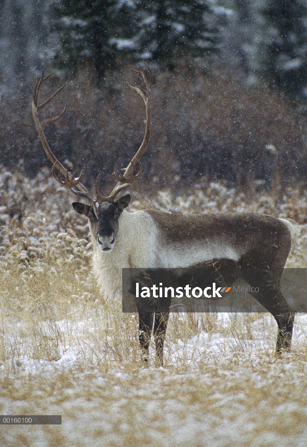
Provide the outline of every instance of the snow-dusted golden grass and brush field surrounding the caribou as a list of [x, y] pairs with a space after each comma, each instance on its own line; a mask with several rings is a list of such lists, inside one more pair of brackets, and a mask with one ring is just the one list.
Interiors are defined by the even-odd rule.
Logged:
[[[307, 316], [296, 316], [292, 353], [275, 360], [269, 314], [172, 314], [165, 368], [143, 368], [137, 315], [100, 295], [67, 192], [49, 171], [30, 180], [1, 169], [0, 184], [0, 413], [62, 415], [61, 426], [1, 426], [1, 445], [306, 445]], [[305, 267], [306, 197], [300, 185], [277, 200], [204, 183], [134, 194], [130, 209], [292, 218], [287, 266]]]

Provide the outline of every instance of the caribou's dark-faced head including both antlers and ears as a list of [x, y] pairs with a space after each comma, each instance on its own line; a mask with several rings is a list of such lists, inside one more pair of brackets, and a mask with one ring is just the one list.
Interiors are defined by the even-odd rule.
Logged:
[[[134, 155], [134, 157], [129, 160], [128, 166], [123, 169], [124, 174], [118, 176], [115, 173], [117, 178], [117, 184], [113, 188], [112, 192], [108, 196], [103, 196], [99, 191], [98, 181], [99, 175], [97, 177], [94, 193], [90, 193], [90, 191], [82, 185], [82, 177], [83, 171], [80, 174], [77, 174], [78, 171], [71, 173], [66, 169], [55, 157], [53, 152], [50, 149], [48, 141], [46, 139], [45, 133], [43, 132], [43, 128], [58, 119], [60, 119], [65, 113], [66, 106], [60, 114], [57, 114], [51, 118], [47, 118], [42, 122], [38, 119], [38, 111], [44, 108], [47, 104], [49, 104], [58, 93], [64, 88], [62, 85], [53, 95], [50, 96], [46, 101], [38, 104], [38, 96], [41, 85], [46, 82], [51, 76], [52, 73], [44, 76], [42, 72], [40, 80], [36, 83], [33, 93], [33, 103], [32, 103], [32, 114], [35, 122], [35, 126], [37, 128], [40, 141], [42, 143], [43, 148], [47, 154], [49, 160], [53, 163], [52, 175], [57, 180], [57, 182], [73, 192], [75, 195], [84, 198], [87, 201], [87, 204], [74, 202], [73, 208], [79, 213], [85, 215], [89, 219], [90, 229], [94, 240], [96, 240], [99, 249], [104, 252], [112, 252], [116, 243], [116, 236], [119, 227], [119, 218], [123, 210], [129, 205], [131, 196], [129, 194], [124, 195], [123, 197], [117, 198], [118, 194], [124, 189], [128, 188], [131, 184], [133, 184], [137, 178], [142, 174], [142, 165], [140, 159], [145, 152], [145, 149], [149, 143], [150, 133], [151, 133], [151, 116], [150, 116], [150, 97], [149, 92], [152, 86], [152, 72], [149, 69], [148, 65], [146, 65], [148, 74], [141, 68], [141, 70], [134, 70], [136, 73], [142, 76], [145, 86], [131, 86], [143, 99], [145, 108], [146, 108], [146, 128], [143, 142]], [[137, 166], [139, 165], [138, 171]]]

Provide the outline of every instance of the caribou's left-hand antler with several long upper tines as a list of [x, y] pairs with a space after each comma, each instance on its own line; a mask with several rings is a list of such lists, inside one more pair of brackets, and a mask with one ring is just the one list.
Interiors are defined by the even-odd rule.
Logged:
[[[49, 104], [55, 98], [55, 96], [58, 95], [64, 88], [64, 85], [62, 85], [46, 101], [37, 105], [40, 87], [41, 87], [42, 83], [46, 82], [52, 75], [53, 75], [53, 73], [50, 73], [49, 75], [44, 76], [44, 73], [42, 72], [41, 78], [39, 79], [38, 83], [36, 83], [36, 85], [35, 85], [34, 93], [33, 93], [33, 102], [32, 102], [32, 115], [33, 115], [33, 119], [35, 122], [35, 126], [38, 131], [38, 135], [40, 137], [42, 147], [45, 150], [47, 157], [53, 164], [53, 168], [51, 171], [52, 175], [56, 178], [56, 180], [59, 182], [60, 185], [65, 186], [66, 188], [68, 188], [69, 190], [71, 190], [72, 192], [74, 192], [77, 195], [82, 195], [82, 197], [85, 197], [88, 200], [90, 200], [90, 202], [92, 202], [93, 197], [91, 196], [89, 190], [81, 183], [83, 171], [81, 171], [80, 175], [76, 179], [75, 174], [77, 171], [75, 171], [73, 174], [71, 174], [68, 171], [68, 169], [66, 169], [58, 161], [58, 159], [55, 157], [52, 150], [50, 149], [50, 146], [46, 139], [45, 133], [43, 132], [43, 128], [46, 125], [57, 121], [64, 115], [66, 106], [64, 107], [63, 111], [60, 114], [54, 115], [53, 117], [50, 117], [50, 118], [47, 118], [47, 119], [43, 120], [41, 123], [39, 122], [39, 119], [38, 119], [38, 110], [41, 110], [43, 107], [45, 107], [47, 104]], [[56, 174], [55, 169], [58, 170], [58, 174]], [[65, 178], [64, 181], [61, 180], [61, 174], [64, 175], [64, 178]], [[75, 189], [73, 189], [75, 186], [80, 190], [81, 194], [79, 194], [79, 191], [76, 191]]]

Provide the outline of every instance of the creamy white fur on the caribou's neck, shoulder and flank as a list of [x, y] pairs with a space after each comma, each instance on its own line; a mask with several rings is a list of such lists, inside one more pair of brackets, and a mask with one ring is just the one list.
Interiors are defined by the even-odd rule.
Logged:
[[93, 267], [102, 292], [107, 296], [121, 295], [123, 268], [189, 267], [214, 258], [237, 261], [240, 256], [223, 240], [163, 241], [155, 220], [146, 211], [124, 210], [112, 252], [102, 252], [93, 240]]

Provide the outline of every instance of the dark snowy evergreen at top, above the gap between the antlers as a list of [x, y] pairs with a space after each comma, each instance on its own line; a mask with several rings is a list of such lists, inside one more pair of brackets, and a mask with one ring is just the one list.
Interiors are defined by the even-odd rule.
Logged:
[[76, 69], [94, 64], [99, 77], [113, 68], [118, 53], [117, 38], [131, 37], [133, 2], [116, 0], [59, 0], [54, 6], [53, 26], [59, 34], [55, 61]]

